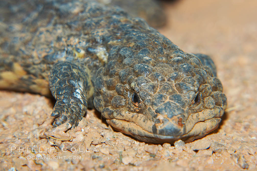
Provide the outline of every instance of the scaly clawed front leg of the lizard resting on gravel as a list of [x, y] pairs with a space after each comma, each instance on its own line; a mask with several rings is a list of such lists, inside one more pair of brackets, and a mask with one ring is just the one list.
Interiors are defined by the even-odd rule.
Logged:
[[56, 117], [53, 127], [69, 122], [76, 127], [87, 110], [89, 71], [76, 62], [59, 61], [53, 65], [49, 85], [56, 104], [51, 116]]

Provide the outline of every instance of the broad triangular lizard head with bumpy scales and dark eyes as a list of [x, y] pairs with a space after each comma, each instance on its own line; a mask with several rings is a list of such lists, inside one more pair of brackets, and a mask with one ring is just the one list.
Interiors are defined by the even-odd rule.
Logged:
[[94, 105], [107, 123], [155, 143], [190, 142], [217, 128], [226, 96], [216, 73], [181, 50], [155, 58], [145, 51], [121, 48], [124, 58], [98, 70]]

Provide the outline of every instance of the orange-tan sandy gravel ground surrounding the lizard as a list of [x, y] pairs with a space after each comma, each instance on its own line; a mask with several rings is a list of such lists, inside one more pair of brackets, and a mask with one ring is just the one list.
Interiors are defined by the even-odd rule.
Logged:
[[155, 145], [113, 131], [91, 110], [75, 129], [51, 129], [50, 99], [0, 91], [1, 170], [257, 170], [257, 1], [164, 5], [169, 21], [160, 32], [213, 57], [228, 99], [220, 127], [185, 145]]

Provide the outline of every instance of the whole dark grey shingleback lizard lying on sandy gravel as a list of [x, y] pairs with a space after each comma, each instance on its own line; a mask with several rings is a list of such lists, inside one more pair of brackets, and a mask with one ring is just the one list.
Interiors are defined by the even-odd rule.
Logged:
[[0, 88], [54, 96], [53, 127], [76, 127], [95, 107], [118, 131], [172, 143], [221, 121], [227, 99], [213, 61], [143, 19], [87, 0], [0, 6]]

